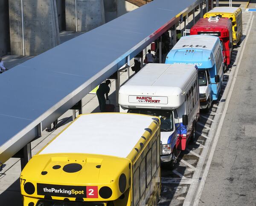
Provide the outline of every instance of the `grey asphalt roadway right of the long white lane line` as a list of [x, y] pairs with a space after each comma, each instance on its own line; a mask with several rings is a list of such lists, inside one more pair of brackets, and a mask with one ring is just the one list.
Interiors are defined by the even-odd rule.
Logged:
[[249, 35], [198, 205], [256, 205], [255, 19]]

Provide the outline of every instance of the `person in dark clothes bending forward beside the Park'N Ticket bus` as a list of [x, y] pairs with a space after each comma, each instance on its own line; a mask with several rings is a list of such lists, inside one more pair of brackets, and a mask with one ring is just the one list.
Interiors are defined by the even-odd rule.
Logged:
[[[99, 109], [101, 112], [105, 112], [106, 108], [106, 99], [108, 100], [108, 93], [110, 91], [110, 85], [111, 81], [107, 79], [106, 83], [101, 83], [99, 85], [99, 89], [96, 91], [98, 100], [99, 100]], [[106, 94], [106, 98], [105, 98]]]

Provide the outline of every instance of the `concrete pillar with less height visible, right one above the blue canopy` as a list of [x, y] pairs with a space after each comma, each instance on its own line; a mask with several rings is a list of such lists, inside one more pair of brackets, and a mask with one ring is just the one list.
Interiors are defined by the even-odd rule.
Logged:
[[105, 23], [103, 0], [65, 2], [67, 31], [90, 31]]

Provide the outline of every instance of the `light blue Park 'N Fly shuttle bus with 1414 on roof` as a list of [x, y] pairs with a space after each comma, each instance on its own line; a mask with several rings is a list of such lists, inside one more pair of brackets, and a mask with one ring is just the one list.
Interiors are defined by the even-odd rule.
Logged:
[[166, 64], [197, 65], [200, 108], [209, 110], [218, 99], [223, 80], [223, 56], [218, 37], [190, 35], [181, 37], [166, 56]]

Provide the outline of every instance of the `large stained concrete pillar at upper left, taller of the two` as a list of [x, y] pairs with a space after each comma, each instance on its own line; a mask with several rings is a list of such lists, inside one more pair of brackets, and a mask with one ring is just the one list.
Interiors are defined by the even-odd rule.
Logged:
[[38, 55], [60, 43], [55, 0], [9, 0], [11, 54]]

